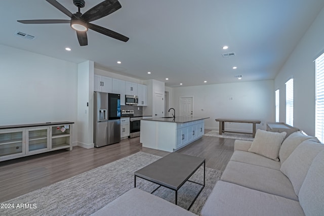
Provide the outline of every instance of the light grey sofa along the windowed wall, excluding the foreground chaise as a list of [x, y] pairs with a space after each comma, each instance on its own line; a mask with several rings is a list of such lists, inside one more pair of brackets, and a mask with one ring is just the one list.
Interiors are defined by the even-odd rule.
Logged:
[[[253, 142], [235, 141], [200, 215], [324, 215], [324, 145], [301, 132], [280, 145], [280, 139], [271, 138], [279, 133], [268, 133], [258, 130]], [[260, 138], [263, 144], [254, 146]], [[274, 142], [279, 142], [276, 150], [270, 147]], [[277, 151], [278, 158], [266, 151]]]

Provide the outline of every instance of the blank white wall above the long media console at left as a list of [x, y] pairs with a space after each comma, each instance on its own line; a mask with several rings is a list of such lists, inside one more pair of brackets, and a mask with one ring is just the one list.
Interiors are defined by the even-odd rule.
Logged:
[[0, 125], [76, 122], [76, 110], [75, 63], [0, 45]]

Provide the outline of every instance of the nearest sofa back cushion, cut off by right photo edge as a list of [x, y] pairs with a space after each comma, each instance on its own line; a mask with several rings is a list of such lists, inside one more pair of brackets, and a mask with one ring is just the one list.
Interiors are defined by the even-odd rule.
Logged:
[[324, 151], [317, 154], [299, 191], [299, 202], [306, 215], [324, 215]]

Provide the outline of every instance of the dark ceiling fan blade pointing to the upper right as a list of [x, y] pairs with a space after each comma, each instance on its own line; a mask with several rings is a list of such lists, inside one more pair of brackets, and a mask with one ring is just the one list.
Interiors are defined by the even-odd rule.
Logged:
[[92, 9], [88, 10], [81, 17], [86, 22], [91, 22], [102, 17], [105, 17], [121, 8], [117, 0], [106, 0], [99, 3]]

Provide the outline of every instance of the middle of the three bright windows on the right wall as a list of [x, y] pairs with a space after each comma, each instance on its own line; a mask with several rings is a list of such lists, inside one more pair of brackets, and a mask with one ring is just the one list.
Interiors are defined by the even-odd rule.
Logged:
[[294, 79], [286, 82], [286, 124], [294, 125]]

